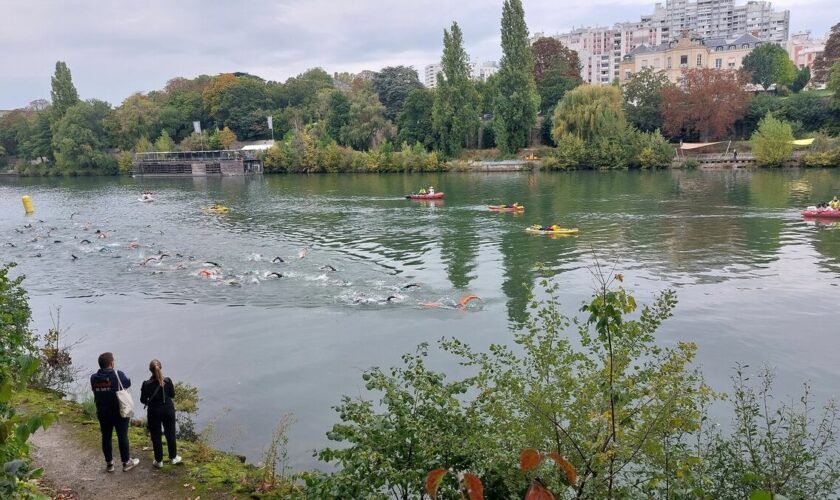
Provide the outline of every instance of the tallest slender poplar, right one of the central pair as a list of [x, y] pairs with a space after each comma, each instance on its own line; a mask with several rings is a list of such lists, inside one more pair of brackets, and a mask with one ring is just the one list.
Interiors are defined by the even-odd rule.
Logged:
[[493, 100], [496, 144], [511, 154], [528, 145], [540, 103], [521, 0], [505, 0], [502, 8], [502, 61], [497, 89]]

